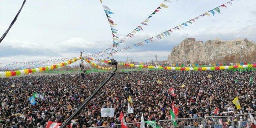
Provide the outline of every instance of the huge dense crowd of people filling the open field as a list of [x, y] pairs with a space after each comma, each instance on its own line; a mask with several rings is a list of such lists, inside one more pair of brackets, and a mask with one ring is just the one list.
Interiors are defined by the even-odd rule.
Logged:
[[[0, 79], [0, 128], [46, 128], [49, 121], [63, 123], [102, 84], [110, 72], [81, 75], [22, 76]], [[239, 121], [236, 114], [256, 111], [256, 86], [250, 76], [255, 72], [233, 71], [132, 71], [116, 72], [91, 101], [72, 119], [66, 128], [87, 128], [120, 124], [122, 112], [126, 123], [156, 121], [163, 128], [172, 128], [172, 103], [178, 107], [176, 119], [205, 118], [206, 116], [230, 115]], [[160, 80], [161, 84], [157, 81]], [[183, 86], [182, 86], [183, 85]], [[174, 88], [175, 96], [169, 92]], [[40, 93], [44, 100], [37, 98], [32, 105], [29, 98]], [[128, 102], [128, 97], [132, 103]], [[232, 103], [238, 96], [240, 109]], [[133, 113], [128, 114], [128, 103]], [[71, 108], [68, 109], [68, 105]], [[218, 108], [216, 114], [214, 110]], [[102, 117], [102, 108], [115, 108], [114, 117]], [[226, 111], [233, 111], [227, 112]], [[256, 122], [249, 116], [242, 117], [250, 125]], [[225, 128], [230, 119], [223, 119]], [[177, 120], [177, 128], [185, 125], [202, 127], [200, 119], [195, 123]], [[208, 119], [211, 127], [216, 120]], [[236, 123], [237, 125], [238, 123]], [[140, 124], [128, 124], [128, 128], [139, 128]], [[147, 127], [150, 127], [148, 125]], [[213, 127], [211, 127], [213, 128]]]

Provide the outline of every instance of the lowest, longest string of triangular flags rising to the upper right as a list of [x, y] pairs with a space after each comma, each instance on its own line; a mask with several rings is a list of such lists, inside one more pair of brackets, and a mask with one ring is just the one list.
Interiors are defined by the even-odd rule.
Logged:
[[[233, 1], [233, 0], [230, 0], [229, 2], [226, 2], [225, 4], [230, 4], [230, 5], [232, 5], [232, 2], [231, 2], [231, 1]], [[172, 32], [173, 30], [180, 30], [180, 28], [183, 28], [182, 26], [188, 26], [187, 23], [193, 24], [192, 22], [195, 22], [195, 19], [199, 19], [199, 17], [204, 17], [205, 15], [211, 16], [209, 13], [212, 13], [213, 16], [215, 15], [215, 11], [218, 12], [218, 13], [221, 13], [221, 10], [220, 10], [219, 7], [225, 7], [225, 8], [227, 8], [227, 6], [226, 6], [225, 4], [221, 4], [220, 6], [218, 6], [218, 7], [214, 8], [214, 9], [211, 9], [211, 10], [207, 11], [207, 12], [205, 12], [205, 13], [203, 13], [203, 14], [197, 16], [196, 18], [192, 18], [192, 19], [190, 19], [189, 21], [186, 21], [186, 22], [184, 22], [184, 23], [182, 23], [182, 24], [180, 24], [180, 25], [178, 25], [178, 26], [175, 26], [175, 27], [173, 27], [172, 29], [169, 29], [168, 31], [164, 31], [164, 32], [162, 32], [162, 33], [160, 33], [160, 34], [158, 34], [158, 35], [155, 35], [155, 36], [153, 36], [153, 37], [150, 37], [150, 38], [147, 39], [147, 40], [141, 41], [141, 42], [139, 42], [139, 43], [133, 44], [133, 45], [131, 45], [131, 46], [125, 47], [125, 48], [120, 49], [120, 50], [116, 50], [115, 53], [117, 53], [117, 52], [122, 52], [122, 51], [128, 50], [128, 49], [133, 49], [134, 47], [143, 46], [143, 45], [145, 45], [144, 43], [153, 42], [154, 38], [157, 38], [157, 39], [160, 40], [160, 39], [164, 38], [164, 35], [165, 35], [165, 36], [170, 35], [170, 32]], [[108, 55], [108, 54], [110, 54], [110, 53], [101, 54], [101, 56], [103, 57], [103, 56]], [[97, 56], [99, 56], [99, 55], [98, 55], [98, 54], [93, 55], [93, 57], [97, 57]], [[111, 54], [110, 57], [113, 57], [113, 54]], [[110, 59], [110, 57], [107, 57], [107, 59]]]

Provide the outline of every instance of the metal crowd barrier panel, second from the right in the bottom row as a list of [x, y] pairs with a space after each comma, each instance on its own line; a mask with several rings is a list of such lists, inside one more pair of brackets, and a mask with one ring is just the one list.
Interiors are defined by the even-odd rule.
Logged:
[[207, 116], [204, 118], [204, 128], [234, 128], [232, 116]]

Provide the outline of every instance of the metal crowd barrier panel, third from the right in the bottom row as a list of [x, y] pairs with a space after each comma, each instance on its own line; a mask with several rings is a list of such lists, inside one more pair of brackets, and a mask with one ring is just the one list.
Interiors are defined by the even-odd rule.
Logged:
[[177, 126], [173, 128], [204, 128], [203, 118], [183, 118], [176, 119]]

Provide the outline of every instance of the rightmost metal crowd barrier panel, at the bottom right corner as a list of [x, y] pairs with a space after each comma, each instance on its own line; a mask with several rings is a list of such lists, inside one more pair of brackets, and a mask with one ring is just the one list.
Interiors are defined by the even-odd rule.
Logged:
[[246, 128], [247, 124], [249, 128], [256, 127], [256, 113], [236, 114], [233, 119], [234, 126], [237, 126], [236, 128]]

